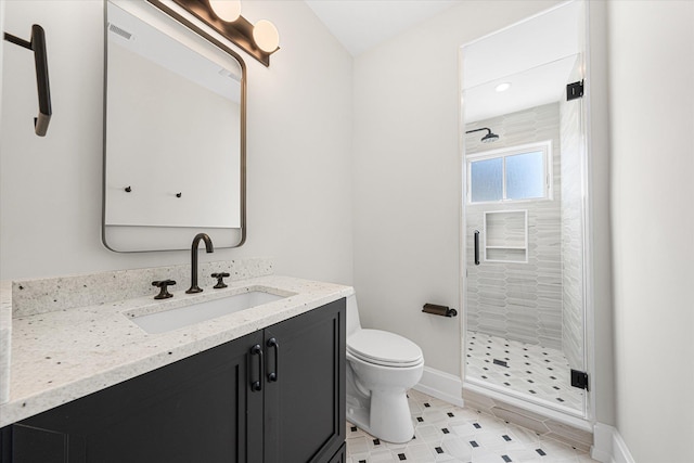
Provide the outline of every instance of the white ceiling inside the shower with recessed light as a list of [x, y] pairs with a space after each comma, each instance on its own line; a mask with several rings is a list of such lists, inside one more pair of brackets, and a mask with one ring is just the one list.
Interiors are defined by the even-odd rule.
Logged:
[[[580, 17], [579, 3], [563, 3], [465, 46], [461, 63], [465, 120], [558, 101], [580, 63]], [[502, 82], [511, 88], [500, 93], [496, 87]]]

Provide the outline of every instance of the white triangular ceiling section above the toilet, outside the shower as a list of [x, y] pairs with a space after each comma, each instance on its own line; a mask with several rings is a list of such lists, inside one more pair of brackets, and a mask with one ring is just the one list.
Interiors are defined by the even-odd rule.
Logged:
[[464, 0], [305, 0], [357, 56]]

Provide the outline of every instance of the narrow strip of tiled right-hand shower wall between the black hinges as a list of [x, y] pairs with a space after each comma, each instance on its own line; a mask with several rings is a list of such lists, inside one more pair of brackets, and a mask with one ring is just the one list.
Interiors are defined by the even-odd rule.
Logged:
[[[570, 81], [580, 80], [577, 59]], [[581, 100], [560, 103], [562, 136], [562, 345], [568, 363], [583, 368], [583, 234]]]

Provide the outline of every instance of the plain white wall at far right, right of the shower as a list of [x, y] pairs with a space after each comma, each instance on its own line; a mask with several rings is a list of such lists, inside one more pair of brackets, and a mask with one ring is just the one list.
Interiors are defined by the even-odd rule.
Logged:
[[694, 3], [608, 2], [617, 428], [694, 455]]

